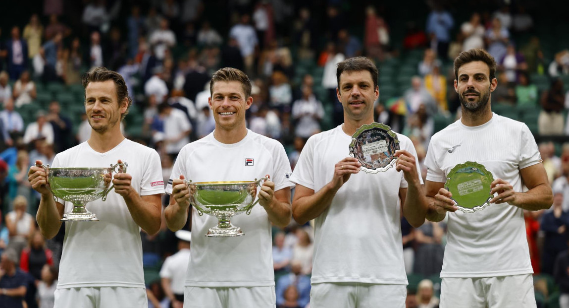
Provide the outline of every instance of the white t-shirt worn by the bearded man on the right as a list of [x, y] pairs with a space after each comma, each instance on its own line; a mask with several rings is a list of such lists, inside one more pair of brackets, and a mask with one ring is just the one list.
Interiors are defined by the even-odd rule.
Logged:
[[[483, 125], [467, 127], [457, 120], [432, 136], [424, 162], [427, 180], [446, 182], [451, 169], [466, 161], [484, 165], [494, 179], [508, 181], [514, 191], [522, 192], [527, 188], [519, 171], [540, 163], [541, 157], [525, 124], [493, 114]], [[448, 240], [440, 277], [531, 273], [521, 208], [490, 204], [474, 213], [448, 213]]]

